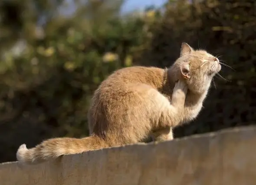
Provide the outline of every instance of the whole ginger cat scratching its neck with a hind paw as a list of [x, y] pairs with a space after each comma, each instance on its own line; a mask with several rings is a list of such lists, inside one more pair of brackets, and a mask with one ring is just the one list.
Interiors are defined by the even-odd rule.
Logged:
[[197, 117], [220, 69], [216, 57], [183, 43], [180, 57], [169, 69], [117, 70], [94, 93], [89, 137], [49, 139], [31, 149], [23, 144], [17, 159], [39, 163], [65, 154], [144, 142], [151, 135], [154, 140], [171, 140], [171, 128]]

